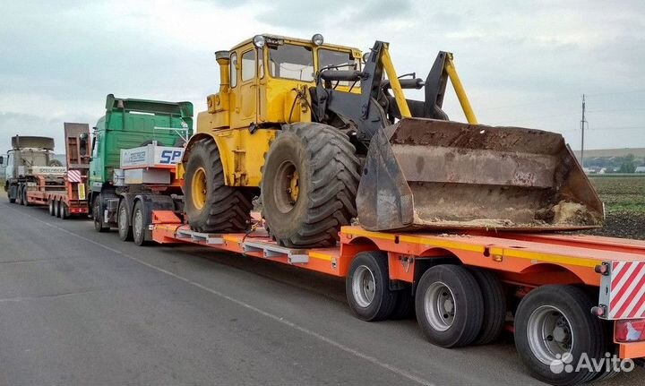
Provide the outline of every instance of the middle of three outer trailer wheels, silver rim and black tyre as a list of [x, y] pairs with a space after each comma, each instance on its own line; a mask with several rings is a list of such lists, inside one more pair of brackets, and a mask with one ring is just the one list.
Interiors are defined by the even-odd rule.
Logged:
[[434, 345], [467, 346], [481, 330], [481, 291], [469, 270], [459, 265], [426, 270], [418, 283], [415, 304], [419, 327]]

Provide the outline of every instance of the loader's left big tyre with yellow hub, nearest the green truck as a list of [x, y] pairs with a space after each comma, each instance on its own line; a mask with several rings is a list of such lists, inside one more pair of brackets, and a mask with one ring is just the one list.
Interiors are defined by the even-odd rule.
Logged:
[[[205, 176], [203, 176], [205, 175]], [[205, 200], [193, 199], [195, 182], [205, 178]], [[219, 150], [211, 138], [195, 142], [185, 169], [185, 212], [198, 232], [244, 232], [249, 227], [254, 193], [224, 184]]]

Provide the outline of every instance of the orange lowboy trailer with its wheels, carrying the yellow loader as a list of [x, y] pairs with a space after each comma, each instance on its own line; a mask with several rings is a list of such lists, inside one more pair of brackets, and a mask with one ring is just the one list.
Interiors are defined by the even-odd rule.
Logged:
[[359, 319], [416, 311], [426, 339], [441, 347], [486, 344], [510, 330], [522, 362], [544, 382], [578, 384], [620, 372], [615, 365], [554, 372], [566, 355], [637, 364], [645, 357], [645, 242], [351, 226], [341, 228], [337, 247], [292, 249], [254, 219], [250, 233], [207, 234], [191, 230], [177, 211], [155, 210], [150, 230], [159, 244], [200, 244], [345, 278]]

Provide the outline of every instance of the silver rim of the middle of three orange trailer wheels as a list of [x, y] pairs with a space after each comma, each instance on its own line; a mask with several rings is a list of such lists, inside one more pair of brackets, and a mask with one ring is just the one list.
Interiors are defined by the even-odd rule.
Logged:
[[434, 282], [426, 290], [424, 309], [427, 322], [437, 331], [452, 327], [457, 311], [452, 290], [441, 281]]

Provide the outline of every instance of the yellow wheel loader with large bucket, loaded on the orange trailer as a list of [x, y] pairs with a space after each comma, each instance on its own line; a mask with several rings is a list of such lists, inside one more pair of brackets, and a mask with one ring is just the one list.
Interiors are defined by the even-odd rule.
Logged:
[[[281, 245], [368, 230], [571, 230], [603, 206], [557, 133], [477, 124], [452, 62], [397, 76], [388, 44], [356, 48], [257, 35], [216, 53], [208, 97], [178, 167], [194, 230], [243, 232], [252, 200]], [[443, 112], [450, 79], [468, 124]], [[425, 100], [403, 89], [423, 89]]]

